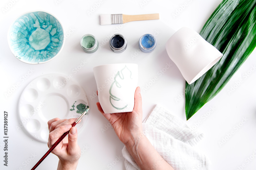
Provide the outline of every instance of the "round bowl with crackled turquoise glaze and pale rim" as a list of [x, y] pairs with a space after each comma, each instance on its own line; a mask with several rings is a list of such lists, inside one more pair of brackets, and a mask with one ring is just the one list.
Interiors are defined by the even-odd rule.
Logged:
[[7, 38], [13, 55], [28, 64], [52, 60], [64, 45], [64, 32], [60, 22], [42, 11], [29, 12], [16, 19]]

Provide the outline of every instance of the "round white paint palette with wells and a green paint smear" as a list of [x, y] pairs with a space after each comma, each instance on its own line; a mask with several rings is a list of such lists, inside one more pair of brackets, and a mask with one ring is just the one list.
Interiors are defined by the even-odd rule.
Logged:
[[[19, 116], [24, 128], [32, 137], [47, 143], [47, 122], [55, 117], [79, 117], [81, 114], [76, 112], [76, 106], [80, 103], [89, 106], [83, 88], [72, 78], [63, 74], [42, 75], [24, 89], [19, 100]], [[87, 118], [88, 114], [76, 125], [80, 129], [78, 132], [82, 131]]]

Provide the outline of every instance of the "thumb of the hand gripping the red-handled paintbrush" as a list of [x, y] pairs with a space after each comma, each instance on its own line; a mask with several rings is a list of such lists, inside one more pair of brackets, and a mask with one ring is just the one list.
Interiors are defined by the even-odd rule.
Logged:
[[70, 154], [77, 152], [77, 147], [77, 128], [71, 127], [68, 134], [68, 152]]

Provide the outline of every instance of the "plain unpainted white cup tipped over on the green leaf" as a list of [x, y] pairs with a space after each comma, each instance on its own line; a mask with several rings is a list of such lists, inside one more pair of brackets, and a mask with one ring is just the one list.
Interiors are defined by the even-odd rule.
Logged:
[[165, 44], [170, 59], [176, 64], [188, 84], [195, 82], [223, 56], [197, 32], [183, 27]]

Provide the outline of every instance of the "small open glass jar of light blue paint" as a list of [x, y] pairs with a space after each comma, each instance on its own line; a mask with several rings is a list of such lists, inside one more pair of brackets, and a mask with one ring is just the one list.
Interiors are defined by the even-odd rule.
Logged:
[[156, 47], [156, 38], [152, 34], [144, 34], [139, 41], [139, 47], [142, 52], [150, 53]]

